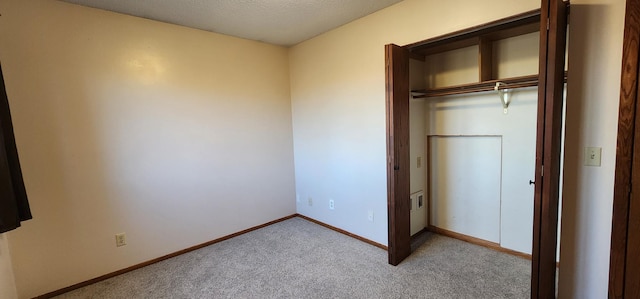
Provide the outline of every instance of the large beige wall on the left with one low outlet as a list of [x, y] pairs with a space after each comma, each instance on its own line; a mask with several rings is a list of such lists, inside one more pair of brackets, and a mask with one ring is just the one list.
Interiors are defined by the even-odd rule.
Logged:
[[20, 298], [295, 213], [286, 48], [58, 1], [0, 12], [34, 215], [8, 234]]

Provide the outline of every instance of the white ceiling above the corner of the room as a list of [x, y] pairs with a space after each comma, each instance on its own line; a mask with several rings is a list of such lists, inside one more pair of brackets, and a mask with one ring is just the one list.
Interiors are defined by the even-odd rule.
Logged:
[[61, 0], [291, 46], [401, 0]]

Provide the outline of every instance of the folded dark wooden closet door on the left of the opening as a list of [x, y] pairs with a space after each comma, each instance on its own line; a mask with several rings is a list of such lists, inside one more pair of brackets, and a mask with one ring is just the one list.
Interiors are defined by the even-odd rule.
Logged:
[[409, 51], [385, 46], [387, 81], [387, 206], [389, 264], [411, 254], [409, 218]]

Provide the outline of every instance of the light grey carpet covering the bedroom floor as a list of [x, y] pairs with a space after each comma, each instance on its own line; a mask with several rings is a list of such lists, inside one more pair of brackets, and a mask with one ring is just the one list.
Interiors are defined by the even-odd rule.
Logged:
[[57, 298], [528, 298], [530, 261], [430, 234], [387, 252], [289, 219]]

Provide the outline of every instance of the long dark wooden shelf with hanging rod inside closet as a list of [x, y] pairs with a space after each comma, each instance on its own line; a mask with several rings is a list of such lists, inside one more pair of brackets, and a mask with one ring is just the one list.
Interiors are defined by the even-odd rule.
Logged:
[[[412, 90], [414, 99], [442, 97], [448, 95], [466, 94], [474, 92], [492, 91], [496, 83], [501, 83], [498, 89], [513, 89], [538, 86], [538, 75], [512, 77], [496, 80], [487, 80], [478, 83], [461, 84], [441, 88]], [[564, 74], [564, 82], [567, 82], [567, 73]]]

